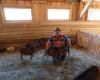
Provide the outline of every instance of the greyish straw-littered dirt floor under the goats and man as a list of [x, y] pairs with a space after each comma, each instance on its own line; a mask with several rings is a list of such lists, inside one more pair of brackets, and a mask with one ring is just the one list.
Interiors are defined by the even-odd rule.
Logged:
[[62, 65], [54, 65], [51, 57], [44, 57], [44, 50], [34, 54], [32, 60], [18, 52], [0, 53], [0, 80], [73, 80], [91, 65], [100, 65], [100, 57], [86, 50], [71, 49]]

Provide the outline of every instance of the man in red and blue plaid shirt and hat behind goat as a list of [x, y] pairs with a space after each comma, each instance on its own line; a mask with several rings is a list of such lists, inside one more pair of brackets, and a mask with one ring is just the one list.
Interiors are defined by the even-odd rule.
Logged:
[[[46, 49], [56, 46], [56, 47], [63, 47], [66, 49], [66, 53], [68, 54], [68, 47], [71, 47], [71, 42], [67, 36], [61, 33], [60, 28], [54, 29], [54, 34], [49, 37], [46, 43]], [[62, 53], [60, 56], [60, 60], [63, 61], [65, 59], [66, 53]]]

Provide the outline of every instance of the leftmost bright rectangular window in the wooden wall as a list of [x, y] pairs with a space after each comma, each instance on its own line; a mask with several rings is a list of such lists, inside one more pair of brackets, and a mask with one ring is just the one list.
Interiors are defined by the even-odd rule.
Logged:
[[30, 8], [4, 8], [4, 15], [6, 21], [32, 20]]

